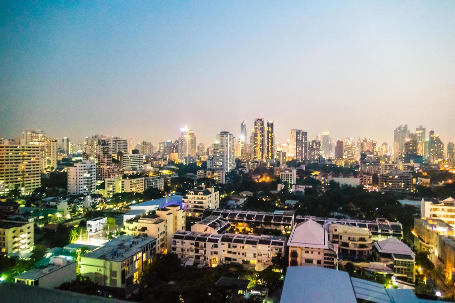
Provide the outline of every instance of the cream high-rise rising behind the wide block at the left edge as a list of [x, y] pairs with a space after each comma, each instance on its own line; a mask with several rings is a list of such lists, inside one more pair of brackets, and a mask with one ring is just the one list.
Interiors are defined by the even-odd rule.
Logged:
[[25, 130], [22, 133], [25, 144], [37, 145], [40, 147], [41, 170], [57, 168], [57, 139], [46, 137], [44, 131], [39, 129]]

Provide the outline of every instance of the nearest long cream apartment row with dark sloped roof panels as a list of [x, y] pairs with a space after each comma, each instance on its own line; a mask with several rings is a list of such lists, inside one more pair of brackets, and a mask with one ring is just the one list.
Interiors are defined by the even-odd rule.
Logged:
[[256, 271], [271, 265], [273, 257], [283, 255], [285, 246], [285, 237], [268, 235], [180, 231], [172, 238], [172, 252], [188, 264], [216, 267], [219, 264], [239, 263]]

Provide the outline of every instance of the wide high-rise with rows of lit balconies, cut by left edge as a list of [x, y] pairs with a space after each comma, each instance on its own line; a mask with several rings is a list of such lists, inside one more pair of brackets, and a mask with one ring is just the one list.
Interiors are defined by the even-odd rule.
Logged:
[[24, 195], [41, 186], [41, 150], [25, 140], [0, 140], [0, 195], [18, 188]]

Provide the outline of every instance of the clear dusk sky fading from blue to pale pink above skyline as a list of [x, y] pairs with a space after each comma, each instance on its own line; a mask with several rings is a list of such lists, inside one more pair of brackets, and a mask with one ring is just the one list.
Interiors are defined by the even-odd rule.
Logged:
[[0, 137], [455, 140], [455, 1], [0, 1]]

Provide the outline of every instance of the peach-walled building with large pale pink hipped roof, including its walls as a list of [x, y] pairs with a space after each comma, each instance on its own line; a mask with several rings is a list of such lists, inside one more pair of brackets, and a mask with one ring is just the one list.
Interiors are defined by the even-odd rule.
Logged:
[[338, 268], [338, 245], [329, 242], [327, 230], [316, 221], [294, 225], [287, 246], [289, 266]]

